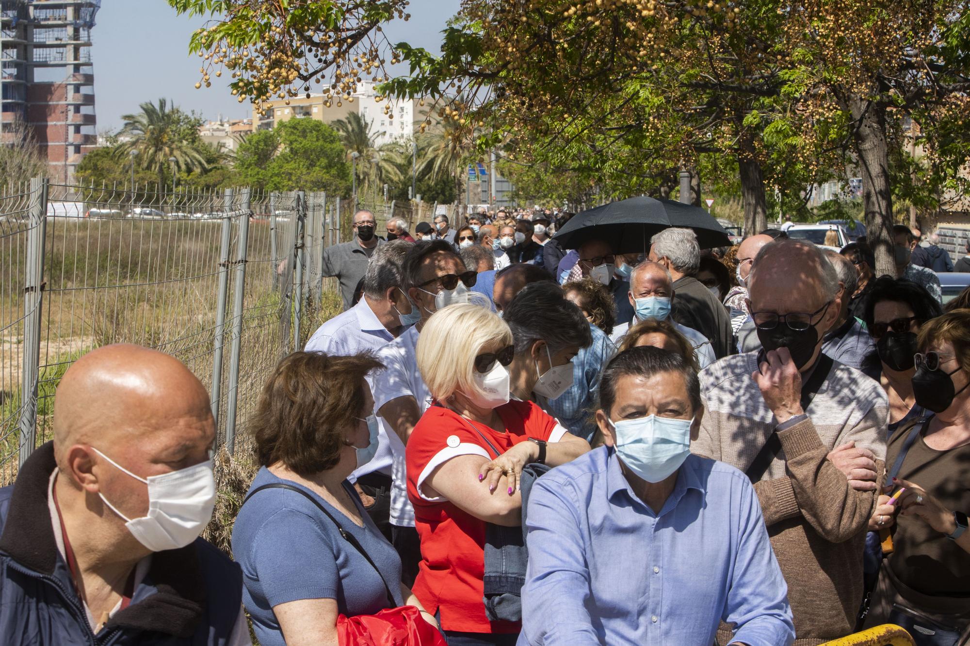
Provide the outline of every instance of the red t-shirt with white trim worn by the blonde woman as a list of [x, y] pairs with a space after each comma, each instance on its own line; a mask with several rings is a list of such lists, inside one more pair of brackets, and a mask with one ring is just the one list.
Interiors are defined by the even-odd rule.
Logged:
[[431, 614], [440, 610], [443, 630], [500, 633], [521, 630], [518, 623], [490, 622], [485, 617], [482, 600], [485, 521], [462, 511], [447, 499], [419, 494], [424, 481], [451, 458], [480, 455], [495, 459], [492, 448], [475, 429], [500, 453], [530, 437], [555, 442], [566, 434], [565, 428], [532, 402], [513, 401], [496, 410], [507, 432], [469, 422], [448, 408], [432, 406], [421, 416], [407, 440], [407, 497], [414, 505], [422, 557], [413, 592], [425, 610]]

